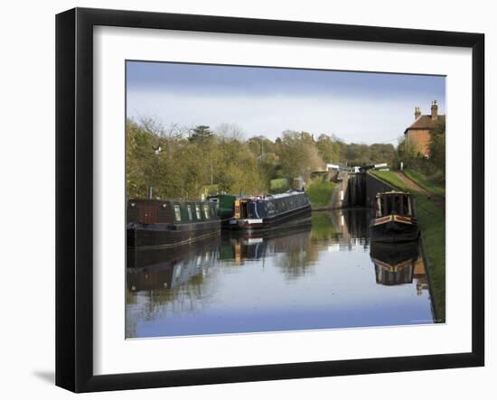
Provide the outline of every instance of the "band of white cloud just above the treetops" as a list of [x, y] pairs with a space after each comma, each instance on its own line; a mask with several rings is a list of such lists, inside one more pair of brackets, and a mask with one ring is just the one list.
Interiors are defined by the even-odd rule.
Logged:
[[[165, 126], [234, 123], [247, 134], [275, 139], [286, 129], [335, 134], [345, 142], [392, 143], [414, 121], [414, 107], [429, 113], [432, 98], [343, 98], [281, 95], [195, 96], [154, 90], [130, 91], [128, 116], [153, 116]], [[439, 114], [444, 114], [444, 99]]]

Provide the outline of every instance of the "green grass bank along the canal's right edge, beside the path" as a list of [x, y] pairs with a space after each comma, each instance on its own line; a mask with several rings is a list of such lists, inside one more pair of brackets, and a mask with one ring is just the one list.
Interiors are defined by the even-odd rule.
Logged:
[[[416, 199], [417, 219], [421, 228], [423, 247], [427, 258], [427, 269], [430, 278], [432, 301], [436, 319], [445, 322], [445, 209], [435, 200], [428, 200], [426, 194], [413, 191], [399, 179], [395, 172], [371, 171], [372, 175], [386, 181], [401, 191], [411, 192]], [[415, 181], [429, 193], [441, 196], [442, 191], [432, 187], [433, 183], [426, 184], [427, 178], [415, 173], [406, 173], [406, 176]], [[419, 181], [418, 181], [419, 179]], [[425, 184], [423, 184], [425, 183]], [[443, 191], [445, 194], [445, 189]]]

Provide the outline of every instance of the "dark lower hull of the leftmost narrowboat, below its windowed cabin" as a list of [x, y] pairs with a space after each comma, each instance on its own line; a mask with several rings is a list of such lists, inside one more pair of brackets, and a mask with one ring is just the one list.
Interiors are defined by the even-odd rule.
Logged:
[[179, 247], [219, 234], [219, 219], [183, 225], [130, 223], [127, 226], [127, 247], [136, 249]]

